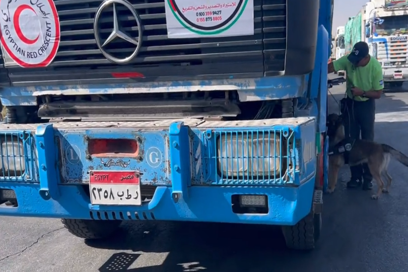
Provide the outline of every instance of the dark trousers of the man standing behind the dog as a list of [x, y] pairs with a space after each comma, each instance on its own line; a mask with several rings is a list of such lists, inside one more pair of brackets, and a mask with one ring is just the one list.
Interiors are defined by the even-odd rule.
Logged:
[[[347, 108], [344, 110], [344, 126], [346, 137], [374, 141], [375, 99], [356, 101], [346, 99]], [[371, 182], [373, 177], [367, 163], [350, 167], [351, 182], [363, 180]]]

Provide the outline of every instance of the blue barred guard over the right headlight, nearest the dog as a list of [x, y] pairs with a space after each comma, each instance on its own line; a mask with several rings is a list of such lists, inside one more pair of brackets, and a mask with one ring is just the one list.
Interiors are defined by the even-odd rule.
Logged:
[[293, 131], [215, 131], [215, 139], [216, 155], [212, 160], [219, 176], [216, 184], [275, 185], [294, 182], [298, 158]]

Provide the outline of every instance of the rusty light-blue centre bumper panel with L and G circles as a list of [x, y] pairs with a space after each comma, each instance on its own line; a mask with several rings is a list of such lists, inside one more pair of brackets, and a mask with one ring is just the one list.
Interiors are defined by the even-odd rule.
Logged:
[[[58, 129], [55, 137], [62, 183], [89, 183], [89, 171], [110, 170], [138, 171], [142, 185], [171, 185], [168, 129]], [[91, 148], [95, 139], [112, 147]], [[129, 141], [137, 150], [127, 145]]]

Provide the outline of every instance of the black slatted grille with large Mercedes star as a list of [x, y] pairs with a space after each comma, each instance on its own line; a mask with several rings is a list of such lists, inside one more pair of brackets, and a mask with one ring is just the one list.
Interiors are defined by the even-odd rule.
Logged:
[[[111, 63], [96, 45], [93, 21], [101, 0], [54, 2], [61, 26], [58, 54], [44, 69], [8, 67], [14, 86], [115, 83], [123, 82], [115, 73], [131, 72], [155, 80], [180, 80], [253, 78], [285, 70], [285, 0], [254, 0], [253, 36], [187, 39], [167, 38], [163, 0], [130, 0], [142, 19], [144, 33], [139, 54], [125, 65]], [[117, 8], [120, 24], [137, 36], [133, 17], [121, 8]], [[106, 12], [100, 21], [101, 38], [105, 39], [112, 31], [113, 12]], [[133, 51], [129, 46], [118, 41], [109, 52], [125, 57]]]

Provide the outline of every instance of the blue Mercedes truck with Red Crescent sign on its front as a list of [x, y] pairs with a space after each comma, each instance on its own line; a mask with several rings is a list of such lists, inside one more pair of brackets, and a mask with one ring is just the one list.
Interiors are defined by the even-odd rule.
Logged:
[[124, 220], [278, 225], [315, 247], [332, 0], [25, 2], [0, 2], [0, 215], [84, 239]]

